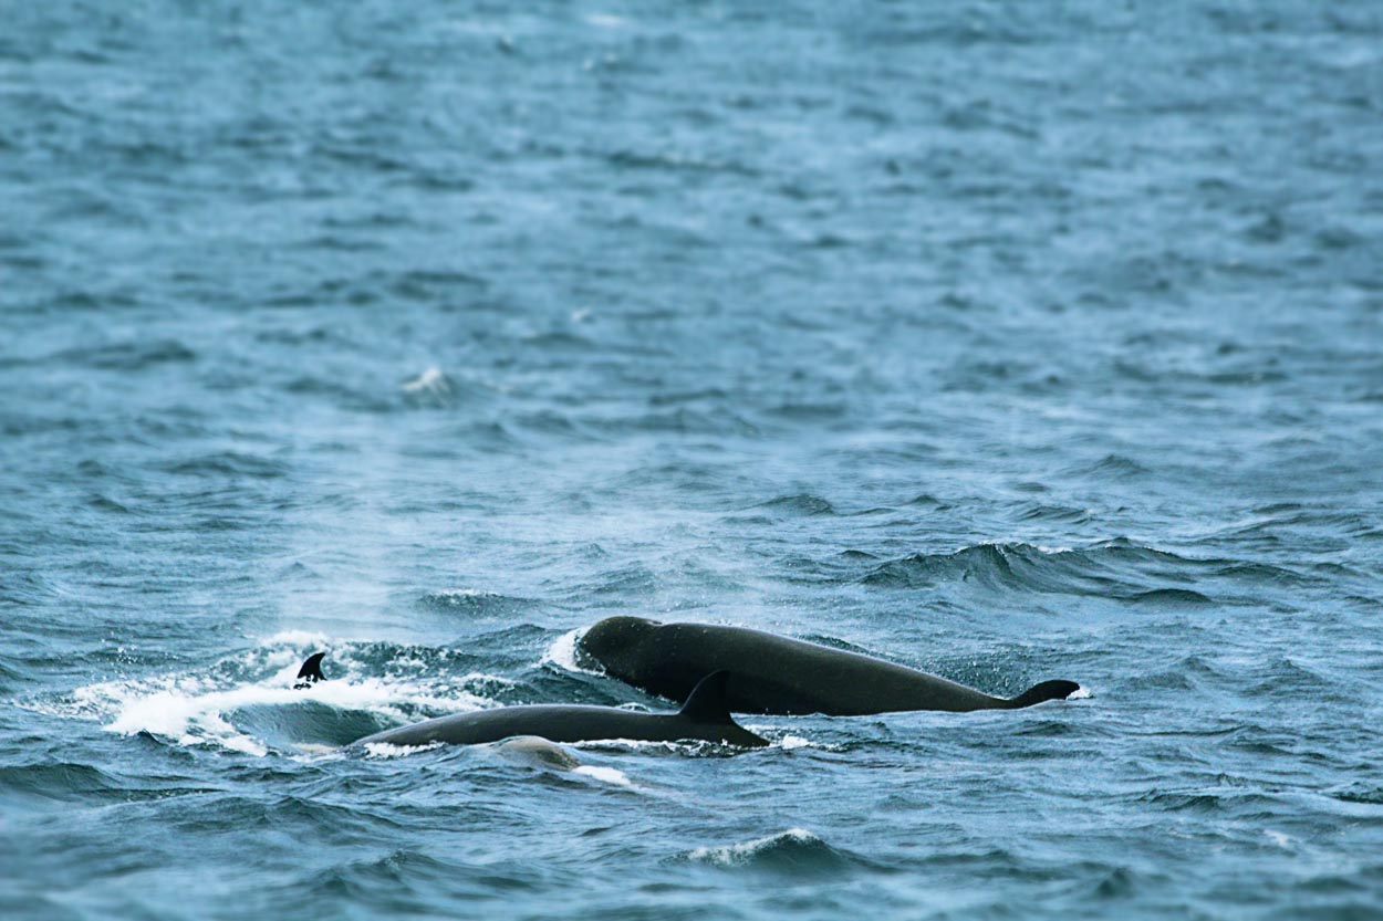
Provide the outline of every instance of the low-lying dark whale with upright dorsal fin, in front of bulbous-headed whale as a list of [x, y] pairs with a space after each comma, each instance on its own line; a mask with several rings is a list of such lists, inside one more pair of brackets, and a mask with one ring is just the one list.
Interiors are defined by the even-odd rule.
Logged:
[[[318, 669], [319, 671], [319, 660]], [[349, 747], [366, 745], [480, 745], [519, 736], [549, 743], [604, 740], [709, 741], [762, 748], [768, 740], [744, 729], [730, 716], [725, 686], [729, 672], [714, 672], [694, 685], [686, 704], [675, 714], [642, 714], [618, 707], [584, 704], [527, 704], [496, 707], [469, 714], [438, 716], [357, 738]]]

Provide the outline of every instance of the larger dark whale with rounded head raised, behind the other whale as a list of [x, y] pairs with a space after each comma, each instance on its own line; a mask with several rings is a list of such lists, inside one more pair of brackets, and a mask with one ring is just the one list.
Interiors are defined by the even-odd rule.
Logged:
[[701, 675], [726, 673], [726, 703], [739, 714], [864, 716], [907, 709], [1019, 709], [1062, 700], [1076, 682], [1041, 682], [1011, 698], [871, 655], [743, 626], [662, 624], [609, 617], [578, 640], [606, 675], [650, 694], [685, 700]]

